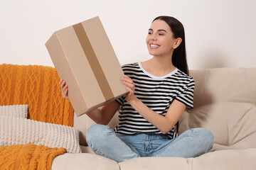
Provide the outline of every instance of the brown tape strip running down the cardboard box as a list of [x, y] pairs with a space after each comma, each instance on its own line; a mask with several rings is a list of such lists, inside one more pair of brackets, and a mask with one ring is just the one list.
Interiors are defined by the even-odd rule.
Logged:
[[85, 33], [85, 29], [83, 28], [82, 23], [73, 25], [73, 28], [80, 45], [82, 46], [82, 50], [85, 52], [85, 56], [87, 57], [90, 67], [92, 68], [92, 72], [95, 74], [95, 78], [97, 79], [97, 83], [100, 86], [102, 94], [105, 97], [105, 100], [109, 101], [114, 98], [114, 94], [112, 93], [110, 84], [107, 82], [107, 78], [105, 77], [102, 67], [100, 67], [100, 62], [97, 60], [90, 40]]

